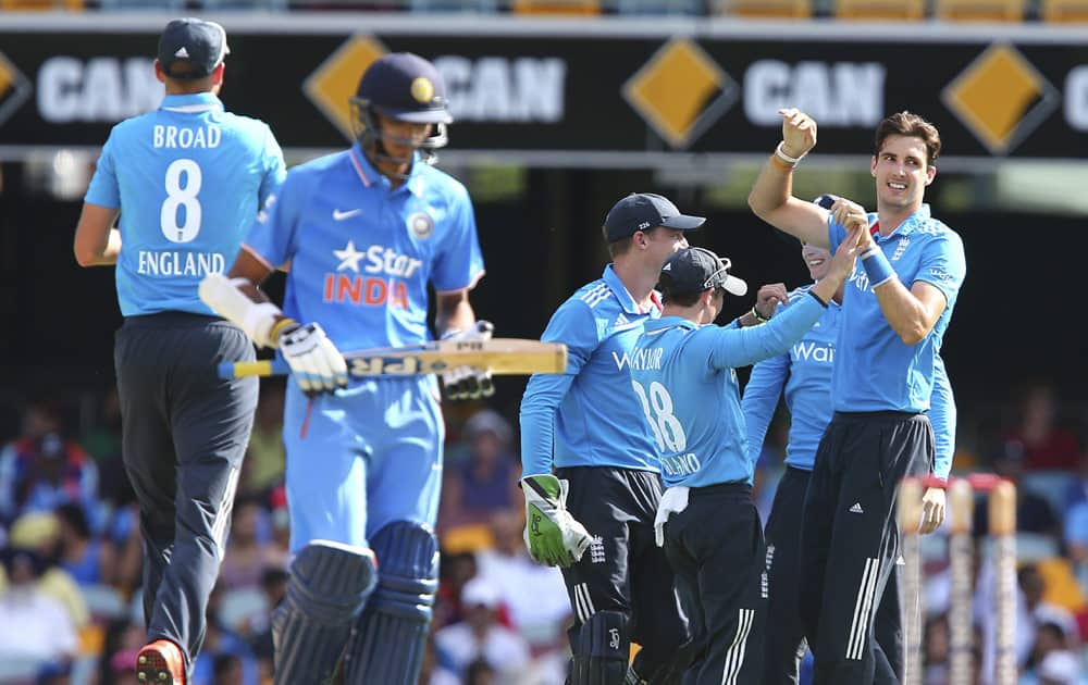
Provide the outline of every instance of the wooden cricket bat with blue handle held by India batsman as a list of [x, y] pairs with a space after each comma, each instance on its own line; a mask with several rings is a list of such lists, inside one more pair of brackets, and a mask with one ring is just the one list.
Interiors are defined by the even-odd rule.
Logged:
[[[434, 340], [422, 345], [381, 347], [345, 352], [348, 375], [417, 376], [442, 373], [457, 366], [485, 369], [494, 375], [562, 373], [567, 370], [567, 346], [522, 338], [490, 340]], [[277, 376], [290, 373], [281, 358], [255, 362], [225, 362], [221, 378]]]

